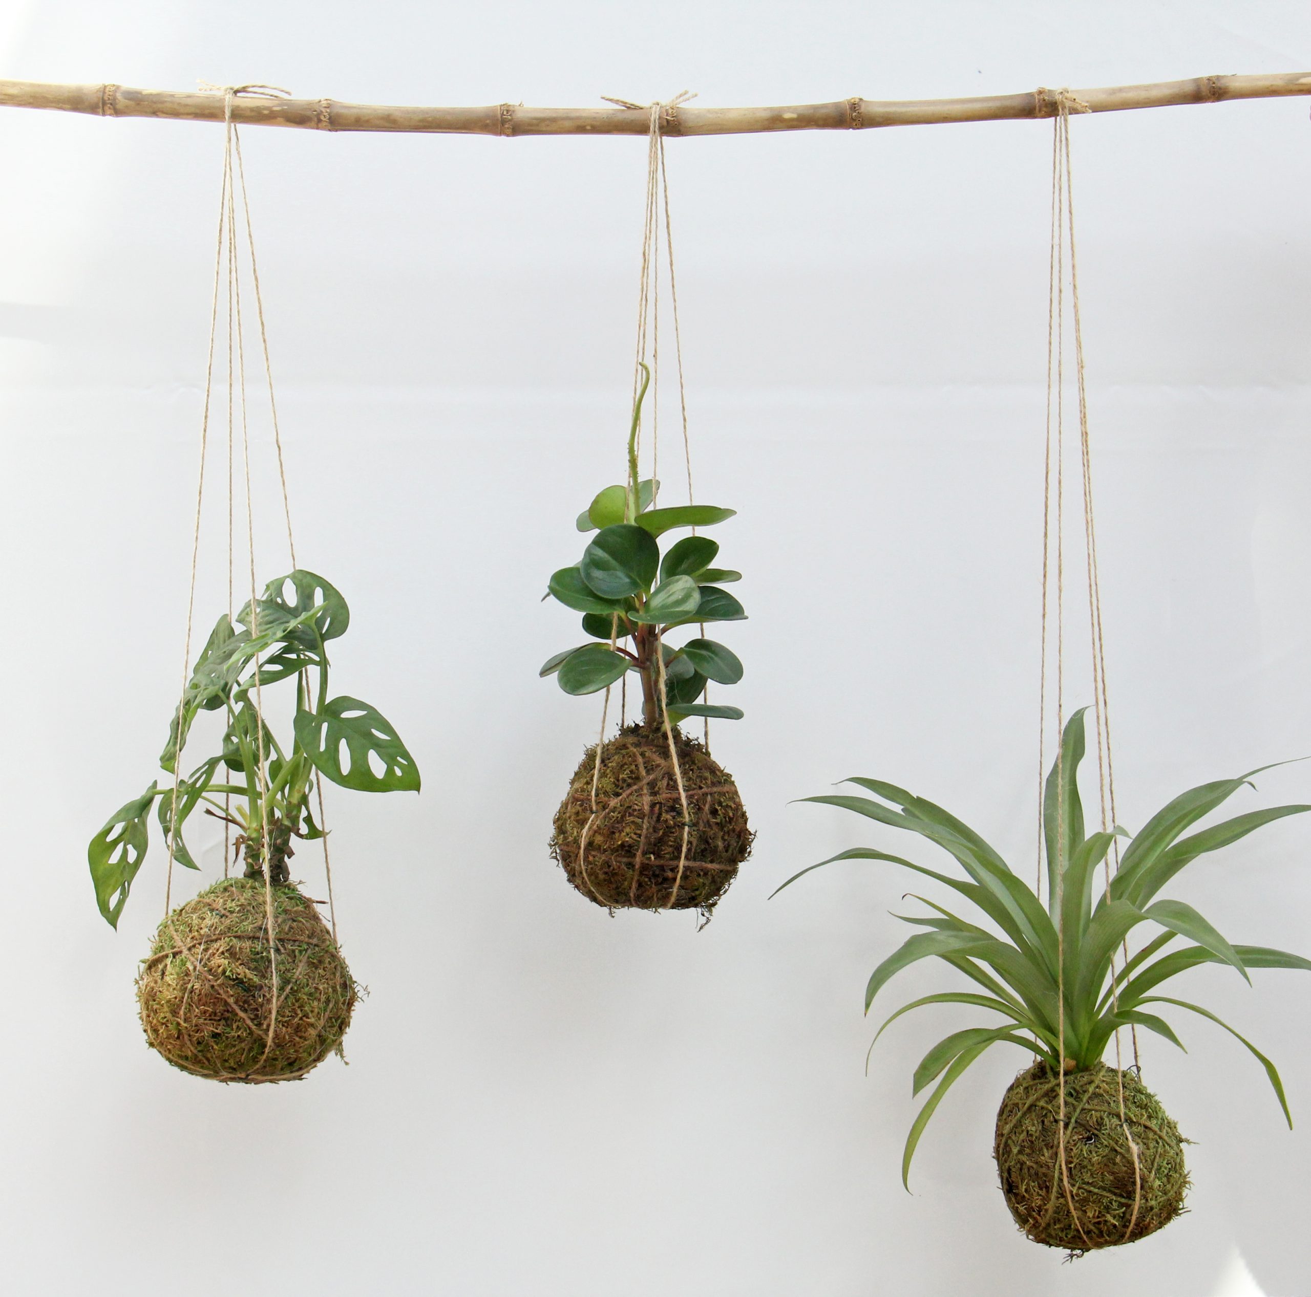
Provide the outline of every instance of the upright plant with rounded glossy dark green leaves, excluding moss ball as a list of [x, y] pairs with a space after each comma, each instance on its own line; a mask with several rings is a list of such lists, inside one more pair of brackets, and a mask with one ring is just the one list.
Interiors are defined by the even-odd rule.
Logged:
[[648, 726], [661, 722], [662, 698], [671, 722], [690, 715], [738, 721], [738, 707], [697, 701], [707, 681], [737, 684], [742, 679], [738, 656], [704, 637], [674, 648], [665, 643], [665, 634], [679, 626], [745, 620], [742, 605], [722, 588], [742, 574], [712, 566], [720, 546], [705, 536], [686, 536], [663, 557], [659, 546], [666, 532], [711, 527], [735, 511], [711, 504], [654, 507], [659, 483], [637, 476], [637, 427], [649, 383], [646, 367], [641, 368], [628, 435], [628, 482], [607, 486], [578, 515], [578, 531], [597, 536], [582, 559], [561, 567], [548, 588], [548, 595], [583, 614], [582, 629], [591, 642], [557, 652], [540, 673], [555, 675], [565, 693], [586, 694], [632, 671], [641, 680]]

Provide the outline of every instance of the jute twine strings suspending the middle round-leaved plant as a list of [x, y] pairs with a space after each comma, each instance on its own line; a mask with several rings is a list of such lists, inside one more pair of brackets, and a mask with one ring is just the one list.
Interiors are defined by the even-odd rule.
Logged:
[[[687, 421], [687, 386], [683, 377], [683, 339], [682, 330], [679, 329], [678, 320], [678, 279], [674, 273], [674, 235], [673, 225], [670, 223], [670, 203], [669, 203], [669, 174], [665, 166], [665, 135], [661, 130], [662, 117], [669, 117], [676, 113], [680, 103], [686, 103], [688, 100], [696, 98], [694, 92], [683, 90], [675, 94], [671, 100], [656, 101], [654, 103], [633, 103], [629, 100], [619, 100], [611, 96], [602, 96], [610, 103], [617, 103], [620, 107], [632, 109], [633, 111], [645, 111], [650, 117], [650, 126], [646, 135], [646, 203], [645, 215], [642, 221], [642, 258], [641, 258], [641, 279], [637, 290], [637, 347], [636, 359], [633, 363], [633, 393], [632, 404], [636, 411], [637, 402], [642, 392], [646, 390], [646, 384], [649, 379], [650, 385], [650, 444], [652, 444], [652, 504], [658, 502], [659, 497], [659, 233], [661, 224], [663, 223], [665, 229], [665, 248], [666, 259], [669, 263], [669, 296], [670, 307], [674, 324], [674, 355], [675, 355], [675, 369], [678, 373], [678, 402], [679, 402], [679, 415], [682, 419], [683, 428], [683, 465], [687, 476], [687, 502], [691, 504], [695, 502], [695, 494], [692, 490], [692, 449], [691, 438], [688, 435], [688, 421]], [[649, 359], [649, 364], [648, 364]], [[637, 422], [637, 453], [641, 455], [642, 445], [642, 422]], [[629, 487], [636, 493], [637, 482], [629, 482]], [[692, 535], [696, 535], [696, 528], [692, 528]], [[611, 620], [611, 637], [610, 647], [615, 648], [617, 641], [619, 620]], [[705, 626], [701, 625], [701, 634], [705, 634]], [[659, 707], [661, 717], [663, 719], [665, 738], [669, 744], [670, 764], [674, 769], [674, 781], [678, 786], [678, 799], [683, 814], [683, 837], [682, 848], [679, 850], [678, 858], [678, 871], [674, 876], [674, 886], [670, 888], [669, 900], [665, 903], [662, 909], [671, 909], [674, 903], [678, 900], [678, 892], [683, 883], [683, 873], [687, 867], [687, 846], [688, 835], [692, 827], [691, 808], [687, 802], [687, 789], [683, 785], [683, 769], [678, 759], [678, 744], [674, 742], [674, 727], [669, 719], [669, 689], [665, 679], [665, 654], [663, 643], [659, 634], [657, 633], [656, 641], [656, 663], [659, 683]], [[595, 824], [598, 815], [600, 814], [597, 806], [597, 790], [600, 783], [600, 749], [606, 740], [606, 722], [610, 714], [610, 693], [612, 685], [606, 686], [604, 701], [602, 702], [600, 710], [600, 734], [597, 739], [597, 760], [593, 766], [591, 774], [591, 814], [587, 818], [587, 823], [583, 825], [582, 835], [578, 840], [578, 865], [579, 871], [586, 882], [587, 887], [591, 890], [593, 896], [597, 897], [600, 904], [607, 905], [614, 913], [614, 908], [610, 907], [608, 901], [602, 897], [587, 875], [587, 836], [591, 832], [593, 824]], [[620, 724], [623, 726], [628, 719], [628, 679], [627, 672], [620, 684]], [[705, 749], [709, 752], [711, 744], [711, 722], [705, 718]], [[641, 862], [638, 861], [638, 867]]]

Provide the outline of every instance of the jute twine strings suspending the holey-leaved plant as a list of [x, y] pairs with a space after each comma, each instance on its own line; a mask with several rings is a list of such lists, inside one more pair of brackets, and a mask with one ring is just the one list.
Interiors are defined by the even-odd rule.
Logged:
[[[254, 303], [256, 303], [256, 318], [260, 329], [260, 348], [264, 360], [264, 377], [265, 385], [269, 393], [269, 411], [273, 426], [273, 439], [277, 451], [278, 460], [278, 483], [282, 491], [282, 508], [283, 520], [287, 532], [287, 549], [291, 555], [291, 566], [296, 567], [296, 545], [295, 537], [292, 535], [291, 527], [291, 504], [287, 494], [287, 474], [286, 474], [286, 461], [282, 449], [282, 434], [278, 426], [278, 405], [274, 394], [273, 385], [273, 366], [269, 356], [269, 335], [265, 324], [264, 314], [264, 296], [260, 288], [260, 267], [256, 258], [254, 249], [254, 229], [250, 219], [250, 202], [246, 190], [245, 179], [245, 165], [241, 157], [241, 139], [237, 132], [236, 123], [232, 121], [232, 101], [236, 96], [250, 94], [250, 96], [286, 96], [288, 92], [278, 86], [267, 85], [228, 85], [216, 86], [202, 81], [201, 89], [223, 94], [224, 98], [224, 145], [223, 145], [223, 182], [220, 186], [219, 197], [219, 223], [218, 223], [218, 238], [215, 248], [214, 259], [214, 290], [212, 290], [212, 303], [210, 309], [210, 338], [207, 347], [206, 359], [206, 373], [205, 373], [205, 402], [201, 415], [201, 449], [199, 449], [199, 470], [197, 476], [197, 489], [195, 489], [195, 517], [191, 531], [191, 567], [190, 567], [190, 582], [187, 588], [187, 603], [186, 603], [186, 634], [184, 639], [182, 650], [182, 688], [180, 690], [178, 706], [181, 709], [182, 702], [186, 697], [186, 685], [190, 679], [191, 669], [191, 631], [194, 625], [194, 612], [195, 612], [195, 580], [197, 580], [197, 567], [201, 550], [201, 519], [203, 512], [205, 500], [205, 476], [206, 476], [206, 461], [208, 452], [208, 435], [210, 435], [210, 418], [212, 411], [212, 398], [214, 398], [214, 381], [215, 381], [215, 342], [218, 338], [218, 324], [219, 324], [219, 297], [220, 297], [220, 280], [225, 280], [223, 293], [225, 299], [227, 309], [227, 538], [228, 538], [228, 553], [227, 553], [227, 584], [228, 584], [228, 616], [233, 614], [233, 574], [235, 574], [235, 554], [236, 554], [236, 537], [235, 537], [235, 512], [236, 512], [236, 491], [235, 491], [235, 442], [236, 442], [236, 427], [237, 427], [237, 410], [240, 410], [240, 434], [241, 434], [241, 469], [243, 469], [243, 485], [245, 493], [245, 541], [246, 541], [246, 558], [248, 558], [248, 576], [249, 576], [249, 590], [250, 590], [250, 635], [254, 638], [260, 633], [258, 628], [258, 591], [256, 583], [256, 554], [254, 554], [254, 499], [250, 489], [250, 439], [249, 439], [249, 422], [248, 422], [248, 402], [246, 402], [246, 373], [245, 373], [245, 330], [241, 317], [241, 265], [240, 265], [240, 244], [241, 244], [241, 231], [244, 231], [245, 246], [249, 254], [249, 276], [250, 284], [254, 290]], [[237, 224], [237, 195], [241, 199], [241, 227]], [[240, 397], [240, 401], [237, 401]], [[273, 1048], [274, 1031], [277, 1027], [278, 1018], [278, 1004], [279, 1004], [279, 985], [278, 985], [278, 945], [277, 945], [277, 918], [273, 907], [273, 882], [271, 871], [269, 869], [269, 808], [266, 803], [266, 797], [269, 791], [269, 770], [267, 761], [265, 756], [265, 727], [264, 727], [264, 693], [261, 684], [261, 655], [254, 655], [254, 717], [256, 717], [256, 738], [258, 745], [258, 769], [257, 769], [257, 786], [261, 793], [261, 854], [264, 865], [264, 891], [265, 891], [265, 924], [267, 930], [269, 941], [269, 964], [270, 964], [270, 980], [271, 980], [271, 994], [269, 1001], [269, 1022], [265, 1031], [265, 1049], [260, 1061], [250, 1069], [252, 1073], [257, 1072], [258, 1068], [267, 1059], [270, 1049]], [[180, 711], [181, 714], [181, 711]], [[164, 917], [165, 922], [169, 924], [169, 931], [173, 934], [173, 939], [180, 949], [180, 952], [185, 955], [191, 966], [191, 981], [193, 985], [197, 980], [205, 979], [208, 975], [201, 967], [195, 952], [184, 942], [172, 924], [172, 896], [173, 896], [173, 861], [177, 854], [177, 803], [178, 791], [181, 786], [181, 772], [182, 772], [182, 747], [185, 740], [180, 734], [178, 749], [174, 753], [173, 762], [173, 791], [172, 791], [172, 816], [170, 816], [170, 831], [165, 835], [168, 845], [168, 870], [165, 874], [164, 886]], [[328, 827], [324, 816], [324, 800], [323, 800], [323, 782], [315, 777], [315, 789], [317, 793], [319, 804], [319, 827], [323, 832], [323, 846], [324, 846], [324, 873], [326, 876], [328, 886], [328, 912], [332, 926], [333, 945], [337, 945], [337, 908], [333, 897], [332, 886], [332, 859], [328, 848]], [[231, 803], [228, 803], [231, 804]], [[228, 861], [229, 861], [229, 824], [224, 824], [224, 837], [223, 837], [223, 875], [228, 876]], [[241, 845], [237, 842], [237, 852], [240, 852]], [[199, 945], [203, 946], [205, 937], [201, 937]]]

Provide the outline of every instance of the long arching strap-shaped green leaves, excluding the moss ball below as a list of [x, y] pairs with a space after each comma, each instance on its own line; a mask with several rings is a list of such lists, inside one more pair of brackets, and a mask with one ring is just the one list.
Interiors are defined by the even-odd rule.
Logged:
[[[975, 917], [992, 925], [979, 926], [936, 901], [916, 896], [931, 913], [897, 917], [927, 930], [890, 954], [874, 969], [865, 988], [868, 1013], [874, 996], [893, 976], [916, 960], [937, 958], [974, 981], [983, 993], [953, 990], [914, 1000], [884, 1022], [880, 1035], [902, 1014], [924, 1005], [971, 1005], [1002, 1018], [999, 1026], [952, 1032], [933, 1045], [915, 1069], [915, 1094], [933, 1081], [937, 1086], [911, 1125], [902, 1159], [903, 1179], [910, 1173], [919, 1137], [944, 1094], [991, 1045], [1019, 1045], [1044, 1060], [1051, 1074], [1062, 1070], [1062, 1062], [1066, 1073], [1095, 1069], [1121, 1027], [1154, 1031], [1183, 1048], [1173, 1028], [1156, 1013], [1156, 1005], [1186, 1009], [1236, 1036], [1264, 1066], [1283, 1115], [1293, 1124], [1274, 1064], [1209, 1009], [1163, 996], [1159, 988], [1198, 964], [1227, 964], [1251, 981], [1251, 968], [1311, 969], [1311, 960], [1266, 946], [1231, 945], [1192, 905], [1162, 900], [1159, 893], [1198, 857], [1228, 846], [1273, 820], [1311, 811], [1311, 806], [1248, 811], [1184, 837], [1181, 835], [1190, 825], [1217, 810], [1260, 772], [1251, 770], [1238, 778], [1189, 789], [1158, 811], [1129, 841], [1118, 871], [1110, 878], [1104, 895], [1096, 899], [1101, 862], [1112, 842], [1129, 835], [1120, 827], [1109, 832], [1084, 832], [1078, 785], [1083, 755], [1083, 713], [1076, 711], [1065, 728], [1061, 753], [1046, 781], [1046, 904], [971, 828], [940, 806], [894, 783], [853, 778], [846, 782], [859, 785], [873, 798], [830, 794], [804, 799], [839, 806], [890, 828], [918, 833], [952, 855], [966, 879], [940, 874], [873, 848], [856, 846], [812, 865], [789, 878], [783, 887], [834, 861], [882, 861], [952, 888], [979, 911]], [[1121, 943], [1141, 924], [1152, 925], [1158, 931], [1117, 967]], [[1162, 954], [1177, 938], [1189, 945]]]

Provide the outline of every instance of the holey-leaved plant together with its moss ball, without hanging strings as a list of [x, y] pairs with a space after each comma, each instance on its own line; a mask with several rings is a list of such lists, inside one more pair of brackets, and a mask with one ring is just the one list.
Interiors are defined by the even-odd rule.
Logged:
[[[160, 924], [136, 983], [142, 1026], [147, 1042], [184, 1072], [287, 1081], [340, 1047], [357, 998], [334, 931], [291, 880], [292, 842], [324, 837], [311, 797], [323, 778], [392, 793], [418, 791], [420, 776], [374, 707], [329, 698], [325, 646], [350, 624], [333, 586], [296, 570], [270, 582], [236, 621], [240, 629], [227, 614], [219, 618], [173, 717], [160, 757], [172, 778], [164, 787], [152, 782], [113, 815], [88, 858], [100, 912], [117, 928], [146, 857], [152, 810], [170, 866], [198, 869], [182, 836], [198, 810], [236, 829], [243, 876], [224, 878]], [[286, 747], [261, 701], [282, 680], [296, 690]], [[224, 714], [222, 751], [181, 778], [180, 752], [202, 711]]]

